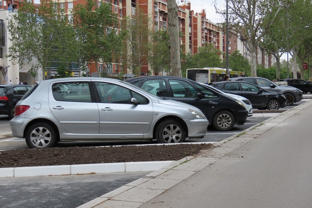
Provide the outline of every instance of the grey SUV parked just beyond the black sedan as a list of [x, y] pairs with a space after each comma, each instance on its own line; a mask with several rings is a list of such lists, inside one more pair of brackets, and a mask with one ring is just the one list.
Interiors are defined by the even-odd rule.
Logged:
[[230, 81], [250, 82], [251, 84], [258, 85], [262, 89], [282, 93], [287, 99], [287, 105], [299, 102], [303, 98], [303, 92], [300, 89], [288, 85], [276, 85], [274, 82], [262, 77], [236, 77], [231, 78]]

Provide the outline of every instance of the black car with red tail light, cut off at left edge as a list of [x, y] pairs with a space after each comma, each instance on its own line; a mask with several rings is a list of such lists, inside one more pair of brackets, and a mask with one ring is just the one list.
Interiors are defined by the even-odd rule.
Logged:
[[29, 85], [0, 85], [0, 115], [15, 115], [15, 105], [31, 88]]

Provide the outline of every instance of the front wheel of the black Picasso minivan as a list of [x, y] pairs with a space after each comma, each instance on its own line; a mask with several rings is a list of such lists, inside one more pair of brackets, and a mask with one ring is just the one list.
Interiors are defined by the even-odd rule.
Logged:
[[213, 117], [213, 127], [217, 131], [230, 131], [235, 124], [233, 114], [227, 110], [217, 112]]

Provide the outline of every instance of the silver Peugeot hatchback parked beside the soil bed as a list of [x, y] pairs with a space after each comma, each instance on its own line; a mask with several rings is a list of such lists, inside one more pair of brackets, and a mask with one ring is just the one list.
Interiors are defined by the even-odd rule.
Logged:
[[98, 77], [38, 81], [16, 104], [14, 137], [29, 148], [62, 141], [203, 138], [208, 120], [198, 108], [163, 100], [127, 82]]

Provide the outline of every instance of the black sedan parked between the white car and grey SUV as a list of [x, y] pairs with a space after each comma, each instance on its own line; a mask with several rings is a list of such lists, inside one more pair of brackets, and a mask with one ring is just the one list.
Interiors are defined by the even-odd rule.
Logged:
[[243, 81], [225, 81], [209, 83], [222, 92], [243, 96], [250, 100], [252, 107], [259, 110], [277, 110], [286, 107], [285, 95], [278, 92], [271, 92], [257, 85]]

